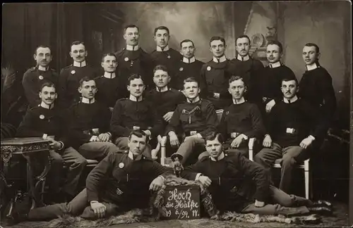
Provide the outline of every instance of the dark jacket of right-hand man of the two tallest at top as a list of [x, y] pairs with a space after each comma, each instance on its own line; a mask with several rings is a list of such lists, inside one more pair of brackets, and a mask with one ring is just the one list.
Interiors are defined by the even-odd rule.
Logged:
[[168, 51], [152, 51], [150, 56], [153, 61], [153, 68], [156, 65], [164, 65], [168, 71], [169, 76], [172, 78], [177, 72], [178, 63], [181, 60], [181, 54], [179, 51], [175, 51], [174, 49], [168, 49]]

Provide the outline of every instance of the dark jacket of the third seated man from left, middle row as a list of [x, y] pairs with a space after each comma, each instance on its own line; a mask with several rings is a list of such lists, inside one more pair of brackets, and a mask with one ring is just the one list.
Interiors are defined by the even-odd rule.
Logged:
[[128, 137], [133, 129], [149, 129], [152, 137], [162, 134], [162, 120], [148, 100], [120, 99], [114, 106], [110, 129], [114, 137]]

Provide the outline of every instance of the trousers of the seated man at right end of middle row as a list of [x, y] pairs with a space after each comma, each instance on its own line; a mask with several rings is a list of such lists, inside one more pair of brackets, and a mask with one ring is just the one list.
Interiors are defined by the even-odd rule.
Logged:
[[[265, 167], [270, 174], [270, 169], [273, 167], [275, 160], [281, 159], [282, 170], [280, 189], [289, 193], [289, 191], [291, 191], [292, 170], [294, 165], [296, 163], [302, 163], [305, 159], [307, 159], [307, 156], [301, 154], [304, 153], [304, 151], [307, 150], [304, 150], [300, 146], [282, 147], [279, 144], [273, 143], [273, 148], [263, 148], [260, 152], [258, 152], [254, 157], [254, 161]], [[270, 177], [270, 179], [272, 178]]]

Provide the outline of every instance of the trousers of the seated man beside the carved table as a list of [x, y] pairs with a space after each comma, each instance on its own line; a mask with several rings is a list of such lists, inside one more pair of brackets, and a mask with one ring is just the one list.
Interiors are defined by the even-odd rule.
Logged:
[[62, 169], [64, 163], [66, 163], [68, 174], [63, 190], [67, 194], [74, 196], [80, 180], [80, 175], [87, 164], [87, 160], [85, 160], [85, 158], [72, 147], [66, 148], [62, 154], [51, 150], [49, 151], [49, 156], [51, 163], [48, 174], [49, 178], [47, 178], [49, 191], [53, 194], [60, 191], [61, 176], [63, 173]]

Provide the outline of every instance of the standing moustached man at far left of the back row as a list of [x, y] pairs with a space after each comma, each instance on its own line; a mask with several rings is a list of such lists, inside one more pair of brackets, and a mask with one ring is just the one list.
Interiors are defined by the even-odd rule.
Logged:
[[52, 82], [54, 84], [58, 82], [57, 73], [49, 68], [49, 63], [53, 58], [49, 46], [38, 46], [35, 49], [33, 58], [35, 58], [37, 65], [34, 68], [28, 69], [23, 75], [22, 80], [25, 97], [30, 108], [36, 107], [41, 103], [38, 93], [44, 82]]

